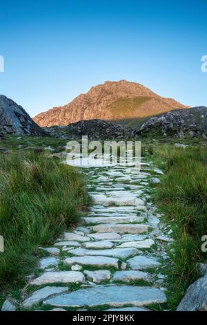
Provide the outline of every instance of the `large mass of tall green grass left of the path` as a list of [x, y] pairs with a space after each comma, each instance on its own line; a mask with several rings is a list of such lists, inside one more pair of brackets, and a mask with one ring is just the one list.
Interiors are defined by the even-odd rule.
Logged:
[[77, 169], [46, 154], [0, 156], [0, 286], [21, 281], [34, 266], [38, 246], [77, 223], [89, 202]]

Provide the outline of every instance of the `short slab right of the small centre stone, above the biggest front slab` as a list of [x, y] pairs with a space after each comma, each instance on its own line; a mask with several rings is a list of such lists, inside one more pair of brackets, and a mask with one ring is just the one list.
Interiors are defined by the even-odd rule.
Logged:
[[130, 282], [136, 280], [150, 281], [151, 277], [146, 272], [126, 270], [126, 271], [115, 272], [112, 279], [114, 281], [123, 281], [123, 282]]

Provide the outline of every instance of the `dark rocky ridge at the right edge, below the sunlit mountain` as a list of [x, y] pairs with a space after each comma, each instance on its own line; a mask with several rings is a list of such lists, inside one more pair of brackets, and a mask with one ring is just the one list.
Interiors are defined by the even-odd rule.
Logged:
[[207, 139], [207, 107], [177, 109], [149, 118], [139, 130], [142, 136], [147, 133], [159, 133], [174, 138], [202, 136]]

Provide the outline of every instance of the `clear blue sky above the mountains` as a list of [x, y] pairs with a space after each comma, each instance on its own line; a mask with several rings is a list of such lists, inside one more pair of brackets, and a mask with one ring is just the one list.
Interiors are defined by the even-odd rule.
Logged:
[[1, 1], [0, 94], [34, 116], [106, 80], [207, 106], [207, 2]]

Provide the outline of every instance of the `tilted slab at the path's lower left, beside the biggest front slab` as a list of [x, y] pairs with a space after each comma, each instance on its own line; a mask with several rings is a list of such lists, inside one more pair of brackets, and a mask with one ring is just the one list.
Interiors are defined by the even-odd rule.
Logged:
[[34, 304], [39, 304], [41, 301], [43, 301], [43, 299], [46, 299], [52, 295], [66, 293], [67, 291], [67, 287], [46, 286], [40, 290], [34, 291], [31, 297], [23, 301], [22, 306], [29, 308]]

